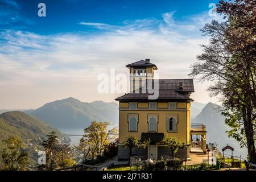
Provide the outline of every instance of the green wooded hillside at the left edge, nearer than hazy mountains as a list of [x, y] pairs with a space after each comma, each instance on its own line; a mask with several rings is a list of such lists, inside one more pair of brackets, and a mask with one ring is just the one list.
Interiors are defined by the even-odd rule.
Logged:
[[38, 151], [43, 150], [42, 142], [51, 131], [55, 131], [61, 141], [69, 142], [68, 137], [60, 131], [22, 111], [0, 114], [0, 141], [12, 136], [22, 139], [23, 149], [30, 156], [31, 167], [36, 166]]

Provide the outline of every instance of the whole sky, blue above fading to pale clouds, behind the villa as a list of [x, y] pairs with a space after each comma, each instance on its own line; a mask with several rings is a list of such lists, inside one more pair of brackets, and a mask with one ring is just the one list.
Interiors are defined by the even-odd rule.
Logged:
[[[38, 4], [46, 4], [46, 17]], [[208, 38], [199, 29], [220, 16], [217, 1], [0, 0], [0, 109], [35, 109], [66, 97], [114, 101], [97, 76], [149, 58], [159, 78], [187, 78]], [[196, 83], [192, 98], [216, 101]]]

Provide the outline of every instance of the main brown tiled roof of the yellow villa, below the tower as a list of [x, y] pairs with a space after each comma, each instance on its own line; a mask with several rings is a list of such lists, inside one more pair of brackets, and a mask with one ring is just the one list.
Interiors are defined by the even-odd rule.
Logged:
[[[159, 81], [159, 96], [157, 100], [191, 100], [189, 94], [194, 92], [193, 79], [164, 79]], [[182, 88], [180, 86], [182, 82]], [[154, 88], [155, 80], [152, 81]], [[154, 88], [155, 89], [155, 88]], [[148, 100], [148, 96], [154, 93], [142, 92], [142, 88], [135, 92], [127, 93], [121, 97], [116, 98], [116, 101], [122, 100]]]

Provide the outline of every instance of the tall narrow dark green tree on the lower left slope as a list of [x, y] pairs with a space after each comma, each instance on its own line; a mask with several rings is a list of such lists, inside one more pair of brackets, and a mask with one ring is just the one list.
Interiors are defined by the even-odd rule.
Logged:
[[46, 169], [52, 171], [57, 167], [56, 153], [57, 153], [57, 136], [55, 131], [47, 135], [48, 139], [43, 141], [44, 151], [46, 152]]

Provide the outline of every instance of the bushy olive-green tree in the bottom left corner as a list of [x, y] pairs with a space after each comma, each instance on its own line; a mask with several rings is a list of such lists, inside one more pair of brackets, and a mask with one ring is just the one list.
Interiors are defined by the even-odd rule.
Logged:
[[9, 171], [27, 169], [28, 154], [22, 150], [22, 145], [19, 137], [10, 137], [2, 141], [0, 159], [4, 169]]

